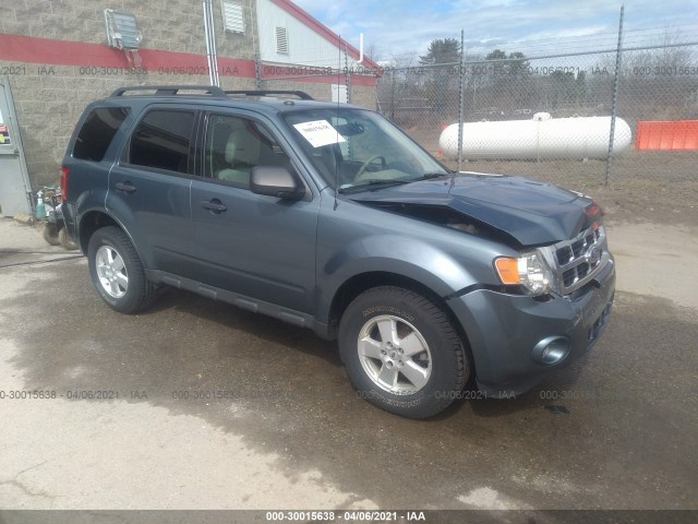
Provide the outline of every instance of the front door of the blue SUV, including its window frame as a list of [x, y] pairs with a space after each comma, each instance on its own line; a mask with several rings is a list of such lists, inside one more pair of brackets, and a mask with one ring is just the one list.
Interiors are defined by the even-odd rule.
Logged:
[[202, 158], [203, 176], [192, 183], [201, 279], [312, 312], [318, 195], [310, 186], [302, 201], [249, 189], [254, 166], [286, 166], [300, 176], [289, 144], [254, 114], [221, 109], [206, 115]]

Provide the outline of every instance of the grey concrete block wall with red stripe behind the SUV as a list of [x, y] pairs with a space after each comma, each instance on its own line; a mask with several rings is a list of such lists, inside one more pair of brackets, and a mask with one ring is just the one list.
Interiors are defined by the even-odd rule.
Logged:
[[[220, 84], [251, 90], [255, 1], [239, 3], [244, 35], [224, 29], [220, 2], [213, 2]], [[134, 73], [125, 55], [107, 46], [105, 9], [135, 15], [143, 35], [139, 56], [147, 72]], [[4, 2], [1, 10], [0, 74], [10, 76], [34, 189], [58, 179], [68, 141], [88, 103], [124, 85], [209, 84], [200, 1], [19, 0]], [[263, 87], [302, 90], [330, 99], [327, 83], [275, 81]], [[352, 100], [375, 108], [375, 87], [353, 88]]]

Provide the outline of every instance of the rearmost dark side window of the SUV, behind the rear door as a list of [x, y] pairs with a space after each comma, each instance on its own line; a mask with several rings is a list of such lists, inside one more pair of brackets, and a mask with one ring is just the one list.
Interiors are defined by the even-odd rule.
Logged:
[[128, 116], [128, 107], [94, 109], [77, 133], [73, 157], [82, 160], [101, 162], [109, 144]]

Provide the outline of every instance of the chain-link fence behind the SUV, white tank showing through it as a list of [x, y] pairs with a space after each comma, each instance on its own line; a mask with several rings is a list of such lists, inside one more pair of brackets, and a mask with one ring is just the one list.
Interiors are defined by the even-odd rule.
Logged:
[[406, 55], [375, 71], [346, 53], [310, 71], [257, 61], [257, 86], [376, 108], [453, 169], [589, 192], [628, 218], [698, 219], [698, 41], [611, 38], [448, 63]]

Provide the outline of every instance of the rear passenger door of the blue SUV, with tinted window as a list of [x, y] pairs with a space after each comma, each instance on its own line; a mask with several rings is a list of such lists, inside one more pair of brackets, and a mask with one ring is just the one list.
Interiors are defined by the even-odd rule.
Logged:
[[181, 106], [148, 106], [111, 169], [107, 195], [148, 269], [190, 278], [196, 277], [190, 187], [197, 118]]

